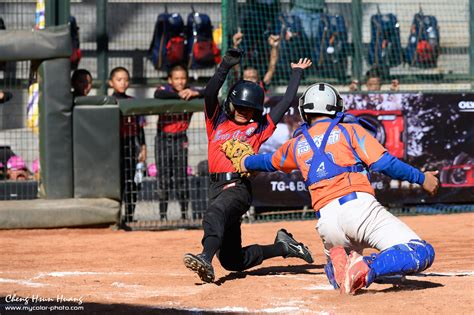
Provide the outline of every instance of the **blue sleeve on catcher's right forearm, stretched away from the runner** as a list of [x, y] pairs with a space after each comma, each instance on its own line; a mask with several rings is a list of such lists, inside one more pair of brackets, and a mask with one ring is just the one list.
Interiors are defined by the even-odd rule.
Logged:
[[385, 152], [377, 162], [372, 163], [370, 170], [388, 175], [394, 179], [407, 180], [410, 183], [423, 185], [425, 181], [423, 172], [400, 161], [388, 152]]

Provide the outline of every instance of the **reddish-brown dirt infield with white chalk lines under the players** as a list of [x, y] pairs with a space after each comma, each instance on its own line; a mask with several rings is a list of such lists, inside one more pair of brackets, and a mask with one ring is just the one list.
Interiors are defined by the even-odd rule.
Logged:
[[399, 286], [374, 284], [355, 296], [328, 284], [315, 221], [243, 225], [245, 245], [272, 243], [287, 228], [309, 245], [314, 264], [276, 258], [230, 273], [216, 260], [214, 284], [202, 284], [182, 263], [184, 253], [199, 252], [201, 230], [0, 231], [0, 314], [471, 313], [473, 219], [472, 213], [402, 217], [433, 244], [435, 263]]

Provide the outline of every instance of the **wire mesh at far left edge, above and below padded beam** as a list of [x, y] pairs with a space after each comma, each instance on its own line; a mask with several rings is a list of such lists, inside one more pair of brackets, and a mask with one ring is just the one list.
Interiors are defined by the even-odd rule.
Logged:
[[[0, 29], [32, 29], [35, 3], [2, 2], [0, 19]], [[36, 198], [38, 192], [38, 134], [27, 127], [27, 104], [37, 97], [28, 93], [31, 74], [29, 61], [0, 61], [0, 200]]]

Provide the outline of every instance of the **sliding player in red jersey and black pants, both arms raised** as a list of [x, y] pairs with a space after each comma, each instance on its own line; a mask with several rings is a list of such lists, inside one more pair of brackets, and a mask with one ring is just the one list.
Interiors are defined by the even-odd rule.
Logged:
[[[209, 206], [204, 214], [202, 239], [203, 250], [198, 255], [185, 254], [184, 265], [197, 273], [202, 281], [214, 281], [212, 259], [217, 257], [224, 269], [242, 271], [272, 257], [297, 257], [313, 262], [311, 253], [290, 233], [278, 231], [274, 244], [251, 245], [242, 248], [240, 220], [252, 200], [250, 182], [236, 173], [232, 163], [226, 159], [222, 144], [228, 139], [239, 139], [251, 144], [250, 150], [258, 150], [275, 130], [296, 95], [303, 70], [311, 66], [309, 59], [292, 63], [293, 73], [282, 101], [265, 116], [263, 112], [263, 89], [250, 81], [239, 81], [230, 90], [219, 106], [217, 95], [229, 70], [238, 64], [242, 51], [230, 49], [204, 92], [206, 129], [209, 139]], [[247, 147], [248, 149], [248, 147]], [[253, 151], [252, 151], [253, 152]]]

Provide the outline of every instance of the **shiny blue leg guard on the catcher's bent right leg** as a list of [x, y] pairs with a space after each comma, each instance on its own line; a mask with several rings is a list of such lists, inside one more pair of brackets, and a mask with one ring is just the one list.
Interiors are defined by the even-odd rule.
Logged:
[[433, 246], [421, 240], [411, 240], [407, 244], [387, 248], [379, 254], [366, 256], [364, 260], [371, 269], [367, 286], [377, 277], [421, 272], [433, 264], [434, 258]]

